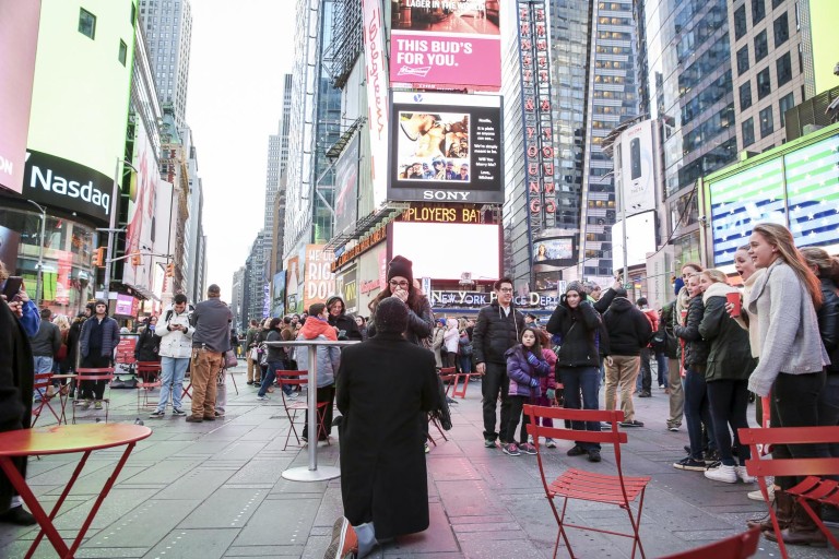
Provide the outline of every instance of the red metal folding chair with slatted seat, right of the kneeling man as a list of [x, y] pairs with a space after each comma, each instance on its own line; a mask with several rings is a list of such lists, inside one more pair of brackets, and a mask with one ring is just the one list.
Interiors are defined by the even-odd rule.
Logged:
[[[554, 557], [559, 548], [559, 538], [565, 542], [565, 546], [568, 548], [568, 552], [574, 558], [574, 550], [571, 544], [568, 542], [568, 536], [565, 533], [565, 528], [579, 528], [589, 532], [600, 532], [603, 534], [612, 534], [615, 536], [623, 536], [633, 538], [633, 555], [635, 558], [636, 548], [640, 550], [641, 557], [647, 557], [643, 552], [643, 546], [641, 545], [641, 538], [639, 535], [641, 525], [641, 512], [643, 511], [643, 493], [647, 489], [647, 484], [650, 483], [649, 477], [629, 477], [624, 475], [623, 467], [621, 465], [621, 444], [627, 441], [626, 433], [617, 429], [617, 424], [624, 420], [624, 413], [621, 411], [596, 411], [596, 409], [567, 409], [564, 407], [542, 407], [530, 404], [524, 405], [524, 413], [530, 416], [530, 424], [528, 425], [528, 432], [533, 436], [533, 442], [536, 445], [536, 461], [539, 462], [539, 474], [542, 477], [542, 485], [545, 488], [545, 496], [547, 502], [551, 503], [551, 509], [554, 512], [556, 524], [559, 527], [559, 532], [556, 535], [556, 543], [554, 544]], [[608, 431], [580, 431], [575, 429], [564, 429], [557, 427], [543, 427], [537, 425], [537, 418], [551, 418], [554, 420], [569, 420], [569, 421], [606, 421], [612, 428]], [[599, 442], [611, 443], [615, 450], [615, 466], [617, 468], [617, 475], [600, 474], [594, 472], [586, 472], [578, 468], [569, 468], [563, 473], [559, 477], [553, 481], [547, 480], [545, 477], [544, 463], [542, 462], [542, 450], [539, 444], [540, 437], [550, 437], [553, 439], [562, 439], [567, 441], [579, 442]], [[640, 496], [638, 501], [638, 513], [633, 514], [630, 503]], [[554, 499], [563, 498], [563, 510], [557, 511]], [[565, 522], [565, 513], [568, 507], [569, 499], [579, 499], [583, 501], [602, 502], [607, 504], [615, 504], [625, 510], [629, 516], [629, 523], [633, 526], [633, 533], [627, 534], [623, 532], [612, 532], [608, 530], [580, 526], [577, 524], [569, 524]]]

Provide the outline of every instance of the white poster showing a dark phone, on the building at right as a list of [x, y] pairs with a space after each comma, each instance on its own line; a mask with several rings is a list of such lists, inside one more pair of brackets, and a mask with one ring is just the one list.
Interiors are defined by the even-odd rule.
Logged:
[[652, 121], [645, 120], [621, 134], [622, 188], [627, 217], [655, 209], [655, 173], [652, 160]]

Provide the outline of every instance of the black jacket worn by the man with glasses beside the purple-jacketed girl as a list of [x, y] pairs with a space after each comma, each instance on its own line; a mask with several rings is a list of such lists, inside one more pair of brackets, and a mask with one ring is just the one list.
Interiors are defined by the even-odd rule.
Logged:
[[477, 322], [472, 330], [472, 348], [475, 364], [495, 362], [506, 366], [504, 354], [519, 343], [519, 335], [524, 330], [524, 314], [510, 305], [509, 314], [495, 300], [477, 312]]

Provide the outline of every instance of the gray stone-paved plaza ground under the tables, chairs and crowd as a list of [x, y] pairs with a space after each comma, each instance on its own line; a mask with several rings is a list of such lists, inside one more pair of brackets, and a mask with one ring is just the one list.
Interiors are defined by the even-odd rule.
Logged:
[[[239, 394], [228, 377], [226, 416], [212, 423], [187, 424], [170, 415], [149, 419], [151, 409], [137, 411], [135, 391], [111, 392], [110, 421], [133, 423], [140, 417], [154, 433], [138, 444], [78, 557], [322, 557], [332, 523], [342, 510], [341, 481], [303, 484], [281, 477], [286, 467], [307, 464], [306, 451], [293, 445], [282, 450], [288, 421], [279, 394], [269, 403], [257, 402], [256, 390], [246, 385], [241, 372], [236, 371]], [[628, 430], [629, 443], [622, 455], [627, 475], [652, 476], [641, 522], [648, 557], [742, 532], [746, 519], [765, 512], [763, 503], [746, 498], [746, 491], [756, 485], [710, 481], [701, 473], [672, 467], [684, 455], [687, 435], [684, 428], [680, 432], [665, 429], [667, 397], [663, 391], [653, 389], [653, 397], [635, 403], [646, 427]], [[752, 409], [749, 413], [754, 415]], [[84, 416], [80, 421], [95, 420], [93, 411]], [[551, 557], [556, 523], [539, 480], [536, 459], [485, 449], [481, 417], [481, 384], [472, 383], [466, 399], [452, 406], [454, 427], [447, 433], [449, 441], [439, 441], [427, 459], [429, 530], [378, 549], [373, 557]], [[38, 427], [49, 425], [45, 419]], [[434, 429], [433, 433], [437, 435]], [[603, 450], [602, 463], [591, 464], [582, 457], [567, 457], [568, 447], [560, 443], [556, 450], [546, 450], [554, 476], [566, 467], [613, 472], [611, 449]], [[318, 452], [321, 464], [338, 465], [336, 443], [321, 444]], [[116, 450], [99, 451], [88, 460], [56, 521], [64, 536], [81, 526], [118, 455]], [[29, 461], [28, 483], [47, 510], [79, 456]], [[616, 507], [574, 502], [569, 511], [577, 523], [629, 530], [626, 514]], [[0, 557], [23, 557], [36, 533], [0, 525]], [[569, 537], [581, 557], [630, 555], [626, 538], [580, 531], [570, 531]], [[836, 557], [829, 549], [789, 550], [794, 558]], [[560, 547], [559, 557], [567, 556]], [[775, 544], [761, 539], [756, 557], [779, 556]], [[43, 542], [35, 557], [56, 554]]]

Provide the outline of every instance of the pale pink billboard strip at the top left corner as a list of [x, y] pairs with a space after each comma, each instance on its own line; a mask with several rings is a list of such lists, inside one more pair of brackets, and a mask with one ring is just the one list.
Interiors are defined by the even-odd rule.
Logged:
[[0, 187], [20, 193], [26, 159], [40, 0], [0, 1]]

